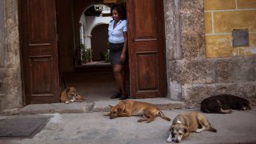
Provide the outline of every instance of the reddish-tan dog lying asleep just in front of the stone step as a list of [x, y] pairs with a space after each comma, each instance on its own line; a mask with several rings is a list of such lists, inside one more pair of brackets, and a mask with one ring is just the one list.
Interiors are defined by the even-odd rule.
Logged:
[[118, 102], [116, 106], [110, 106], [110, 113], [104, 114], [110, 116], [110, 119], [117, 117], [130, 117], [130, 116], [141, 116], [142, 118], [138, 122], [152, 122], [158, 115], [161, 118], [170, 121], [170, 118], [166, 117], [157, 106], [146, 102], [137, 102], [131, 100], [124, 100]]

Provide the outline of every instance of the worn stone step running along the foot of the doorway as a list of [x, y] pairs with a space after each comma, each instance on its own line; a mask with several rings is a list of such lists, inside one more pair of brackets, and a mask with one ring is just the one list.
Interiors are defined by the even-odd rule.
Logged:
[[[133, 99], [134, 101], [149, 102], [158, 106], [161, 110], [184, 109], [184, 102], [171, 101], [168, 98], [145, 98]], [[120, 100], [102, 101], [102, 102], [74, 102], [51, 103], [51, 104], [31, 104], [23, 107], [18, 114], [52, 114], [52, 113], [87, 113], [87, 112], [107, 112], [110, 106], [116, 105]]]

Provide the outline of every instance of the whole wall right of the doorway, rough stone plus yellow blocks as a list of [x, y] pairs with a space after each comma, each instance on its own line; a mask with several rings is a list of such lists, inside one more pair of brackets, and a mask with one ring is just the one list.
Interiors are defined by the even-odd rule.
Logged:
[[[202, 99], [212, 95], [234, 94], [249, 99], [255, 106], [253, 1], [164, 1], [170, 99], [186, 102], [187, 107], [198, 107]], [[233, 47], [233, 29], [249, 29], [250, 46]]]

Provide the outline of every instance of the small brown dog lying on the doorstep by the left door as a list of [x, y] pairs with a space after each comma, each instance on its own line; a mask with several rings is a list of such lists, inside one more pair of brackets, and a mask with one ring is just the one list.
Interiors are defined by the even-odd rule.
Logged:
[[61, 102], [66, 104], [70, 102], [82, 102], [83, 99], [81, 95], [76, 94], [74, 87], [67, 87], [61, 94]]

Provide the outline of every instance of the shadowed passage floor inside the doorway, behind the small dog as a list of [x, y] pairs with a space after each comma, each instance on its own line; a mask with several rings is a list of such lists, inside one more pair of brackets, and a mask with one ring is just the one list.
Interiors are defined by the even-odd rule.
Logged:
[[[110, 96], [115, 93], [114, 75], [110, 66], [86, 67], [77, 70], [77, 72], [62, 75], [66, 86], [74, 86], [77, 93], [86, 98], [85, 102], [110, 100]], [[126, 76], [126, 89], [128, 92], [130, 92], [129, 83], [128, 75]], [[63, 84], [62, 90], [64, 90]]]

